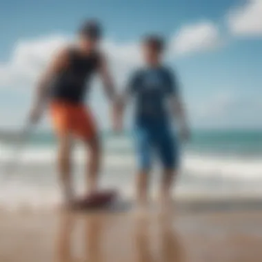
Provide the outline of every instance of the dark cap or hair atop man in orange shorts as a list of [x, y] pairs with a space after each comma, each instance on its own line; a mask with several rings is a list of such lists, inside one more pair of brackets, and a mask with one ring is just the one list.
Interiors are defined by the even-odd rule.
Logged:
[[79, 34], [84, 37], [90, 37], [91, 39], [100, 39], [102, 37], [101, 24], [94, 19], [86, 20], [81, 24]]

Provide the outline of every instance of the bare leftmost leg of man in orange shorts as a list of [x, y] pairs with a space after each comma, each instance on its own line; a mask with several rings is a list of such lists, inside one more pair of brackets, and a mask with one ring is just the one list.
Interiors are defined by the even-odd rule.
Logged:
[[59, 136], [58, 168], [61, 190], [66, 204], [70, 204], [74, 197], [71, 176], [71, 147], [70, 134], [61, 134]]

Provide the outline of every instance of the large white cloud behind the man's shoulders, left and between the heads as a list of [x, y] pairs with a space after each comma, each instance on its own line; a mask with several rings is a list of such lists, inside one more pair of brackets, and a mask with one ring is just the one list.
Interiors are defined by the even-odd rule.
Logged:
[[[34, 83], [52, 55], [70, 42], [70, 37], [52, 35], [20, 41], [14, 47], [7, 63], [0, 63], [0, 88], [28, 86]], [[119, 44], [107, 40], [103, 50], [108, 54], [112, 71], [123, 79], [132, 66], [139, 63], [139, 48], [136, 43]]]

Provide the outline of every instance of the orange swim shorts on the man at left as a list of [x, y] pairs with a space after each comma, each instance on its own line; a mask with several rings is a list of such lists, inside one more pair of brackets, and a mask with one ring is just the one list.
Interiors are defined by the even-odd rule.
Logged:
[[52, 101], [50, 113], [54, 130], [58, 136], [72, 134], [84, 140], [97, 136], [94, 117], [90, 108], [85, 105]]

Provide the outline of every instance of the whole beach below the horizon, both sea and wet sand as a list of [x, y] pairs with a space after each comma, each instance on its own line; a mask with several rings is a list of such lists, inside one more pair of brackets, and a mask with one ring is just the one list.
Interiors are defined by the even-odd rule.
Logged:
[[[256, 262], [262, 261], [261, 133], [201, 132], [182, 150], [172, 190], [174, 213], [155, 208], [134, 215], [132, 136], [104, 134], [101, 188], [119, 191], [123, 205], [67, 213], [56, 207], [61, 190], [56, 141], [36, 134], [12, 162], [15, 148], [0, 136], [0, 262]], [[74, 152], [74, 185], [84, 193], [85, 152]], [[150, 194], [157, 196], [155, 165]]]

